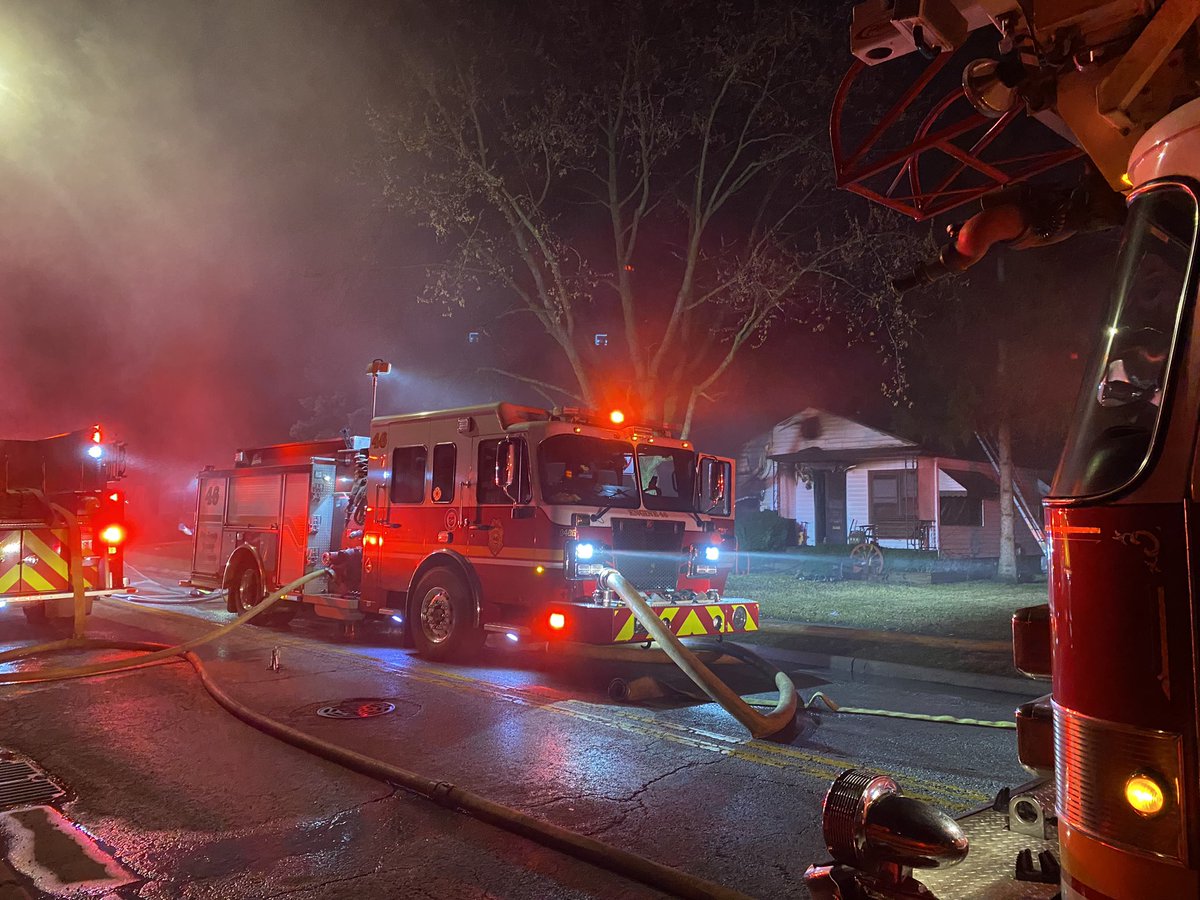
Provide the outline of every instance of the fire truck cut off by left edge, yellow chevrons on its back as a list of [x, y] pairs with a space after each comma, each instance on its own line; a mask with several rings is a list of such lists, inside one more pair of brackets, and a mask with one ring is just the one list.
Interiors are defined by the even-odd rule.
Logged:
[[[0, 607], [30, 622], [74, 614], [72, 576], [91, 598], [125, 588], [125, 446], [91, 428], [0, 440]], [[79, 527], [72, 546], [71, 520]]]

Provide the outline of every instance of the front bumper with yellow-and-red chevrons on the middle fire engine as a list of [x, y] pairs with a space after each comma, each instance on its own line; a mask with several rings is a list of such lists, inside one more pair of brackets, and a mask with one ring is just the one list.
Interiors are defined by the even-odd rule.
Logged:
[[[725, 637], [758, 630], [758, 604], [725, 599], [714, 602], [650, 602], [654, 613], [678, 637]], [[550, 641], [592, 644], [644, 643], [646, 628], [624, 604], [556, 604], [535, 629]]]

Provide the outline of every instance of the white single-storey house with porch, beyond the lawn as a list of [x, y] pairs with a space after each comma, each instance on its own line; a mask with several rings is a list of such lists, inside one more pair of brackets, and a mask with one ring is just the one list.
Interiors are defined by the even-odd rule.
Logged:
[[[846, 544], [852, 532], [872, 526], [883, 547], [998, 558], [1000, 479], [983, 448], [979, 457], [940, 455], [809, 408], [743, 448], [739, 500], [757, 496], [761, 509], [796, 520], [808, 544]], [[1014, 467], [1014, 485], [1018, 552], [1039, 554], [1034, 529], [1049, 486], [1021, 467]]]

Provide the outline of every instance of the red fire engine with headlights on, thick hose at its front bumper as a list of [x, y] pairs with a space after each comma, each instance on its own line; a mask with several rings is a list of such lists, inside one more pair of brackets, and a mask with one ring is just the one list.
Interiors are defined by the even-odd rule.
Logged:
[[655, 425], [512, 403], [380, 416], [371, 437], [240, 450], [199, 474], [191, 583], [242, 611], [318, 564], [274, 620], [402, 622], [431, 658], [490, 632], [638, 643], [596, 576], [619, 569], [679, 636], [758, 628], [722, 596], [733, 463]]

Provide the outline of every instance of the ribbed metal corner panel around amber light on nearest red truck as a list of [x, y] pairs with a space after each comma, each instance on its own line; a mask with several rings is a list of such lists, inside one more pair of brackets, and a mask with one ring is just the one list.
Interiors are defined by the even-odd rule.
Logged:
[[[1178, 734], [1092, 719], [1054, 706], [1058, 815], [1105, 844], [1184, 858], [1184, 810], [1180, 791]], [[1153, 818], [1139, 816], [1124, 799], [1126, 780], [1151, 773], [1174, 793]]]

